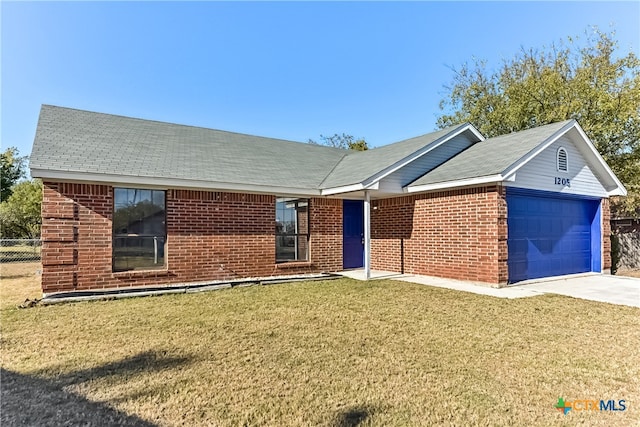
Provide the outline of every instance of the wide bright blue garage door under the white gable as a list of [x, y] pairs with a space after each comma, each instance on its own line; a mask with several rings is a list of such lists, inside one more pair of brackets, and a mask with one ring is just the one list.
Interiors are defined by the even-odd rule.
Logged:
[[509, 282], [600, 271], [600, 201], [507, 190]]

